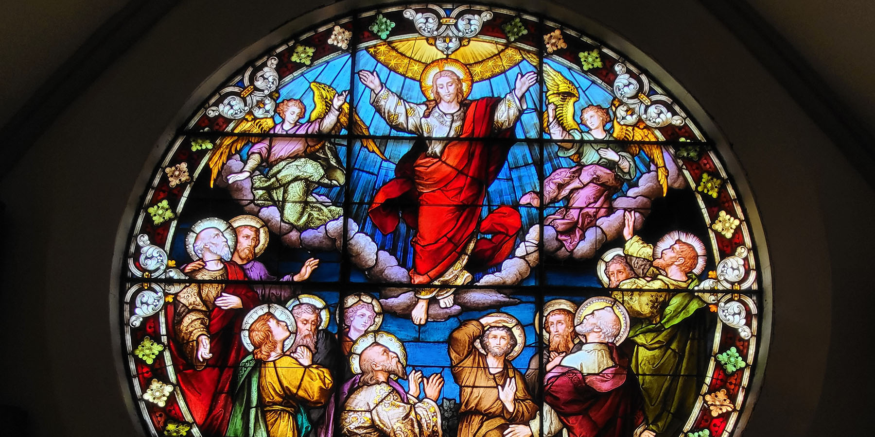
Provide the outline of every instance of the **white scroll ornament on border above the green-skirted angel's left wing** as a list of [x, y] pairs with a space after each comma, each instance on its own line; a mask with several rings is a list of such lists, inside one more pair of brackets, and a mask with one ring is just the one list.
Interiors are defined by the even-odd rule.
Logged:
[[207, 108], [207, 116], [221, 114], [232, 120], [242, 119], [249, 111], [256, 118], [272, 117], [276, 101], [270, 94], [279, 86], [276, 73], [276, 57], [271, 57], [260, 65], [260, 69], [249, 67], [243, 74], [243, 87], [225, 87], [219, 93], [220, 103]]

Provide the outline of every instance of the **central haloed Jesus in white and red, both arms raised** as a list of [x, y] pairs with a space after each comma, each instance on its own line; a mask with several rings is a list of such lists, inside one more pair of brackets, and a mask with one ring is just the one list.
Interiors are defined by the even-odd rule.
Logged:
[[503, 98], [469, 101], [471, 73], [455, 59], [439, 59], [423, 70], [420, 82], [429, 99], [424, 103], [402, 100], [376, 73], [358, 75], [371, 89], [377, 114], [392, 128], [418, 136], [395, 166], [395, 178], [374, 195], [369, 215], [383, 233], [395, 231], [401, 219], [416, 231], [410, 281], [434, 286], [416, 290], [410, 318], [423, 324], [430, 298], [450, 307], [455, 288], [445, 286], [472, 281], [471, 271], [500, 263], [514, 249], [520, 213], [499, 206], [480, 215], [486, 190], [514, 144], [513, 128], [537, 75], [517, 74], [513, 91]]

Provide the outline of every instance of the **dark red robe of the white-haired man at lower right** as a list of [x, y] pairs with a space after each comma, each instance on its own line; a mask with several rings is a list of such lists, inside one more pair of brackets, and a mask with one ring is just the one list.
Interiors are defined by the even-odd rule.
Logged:
[[615, 365], [594, 375], [557, 365], [544, 376], [544, 402], [571, 437], [631, 437], [644, 423], [641, 387], [629, 360], [608, 344]]

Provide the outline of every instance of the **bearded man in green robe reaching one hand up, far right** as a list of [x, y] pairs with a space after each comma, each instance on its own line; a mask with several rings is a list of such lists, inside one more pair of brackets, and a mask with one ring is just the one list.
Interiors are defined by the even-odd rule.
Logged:
[[700, 339], [709, 322], [699, 311], [706, 303], [696, 294], [672, 293], [668, 288], [697, 285], [697, 274], [704, 270], [704, 244], [689, 233], [670, 232], [655, 248], [634, 235], [634, 214], [626, 212], [625, 216], [624, 252], [651, 262], [646, 276], [620, 282], [620, 288], [641, 291], [621, 290], [612, 295], [633, 317], [631, 368], [641, 384], [649, 429], [674, 435], [697, 399], [697, 375], [703, 374], [705, 365], [699, 357], [707, 356]]

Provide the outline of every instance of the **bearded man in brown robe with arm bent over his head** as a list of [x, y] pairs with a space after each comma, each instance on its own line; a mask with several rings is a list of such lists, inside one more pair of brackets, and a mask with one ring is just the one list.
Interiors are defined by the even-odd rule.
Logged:
[[538, 407], [510, 362], [524, 342], [519, 322], [502, 313], [466, 321], [451, 332], [447, 346], [460, 398], [457, 435], [531, 435], [528, 422]]

